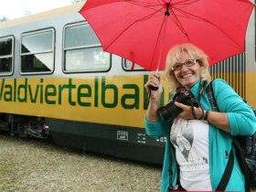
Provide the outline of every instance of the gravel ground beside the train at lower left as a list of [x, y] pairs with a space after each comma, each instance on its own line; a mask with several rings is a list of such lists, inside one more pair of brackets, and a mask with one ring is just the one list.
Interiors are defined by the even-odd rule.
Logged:
[[0, 191], [159, 191], [161, 166], [0, 133]]

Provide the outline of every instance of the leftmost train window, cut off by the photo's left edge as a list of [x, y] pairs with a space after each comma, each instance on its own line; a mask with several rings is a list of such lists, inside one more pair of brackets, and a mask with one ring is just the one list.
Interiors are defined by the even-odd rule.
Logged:
[[0, 37], [0, 76], [13, 73], [14, 37]]

